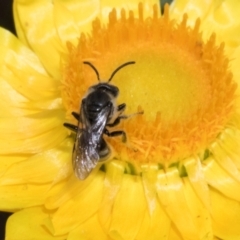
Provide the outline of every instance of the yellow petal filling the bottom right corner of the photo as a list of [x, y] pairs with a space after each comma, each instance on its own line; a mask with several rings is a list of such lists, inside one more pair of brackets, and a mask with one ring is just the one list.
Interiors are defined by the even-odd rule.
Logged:
[[240, 205], [214, 189], [212, 201], [213, 230], [220, 239], [239, 240]]

